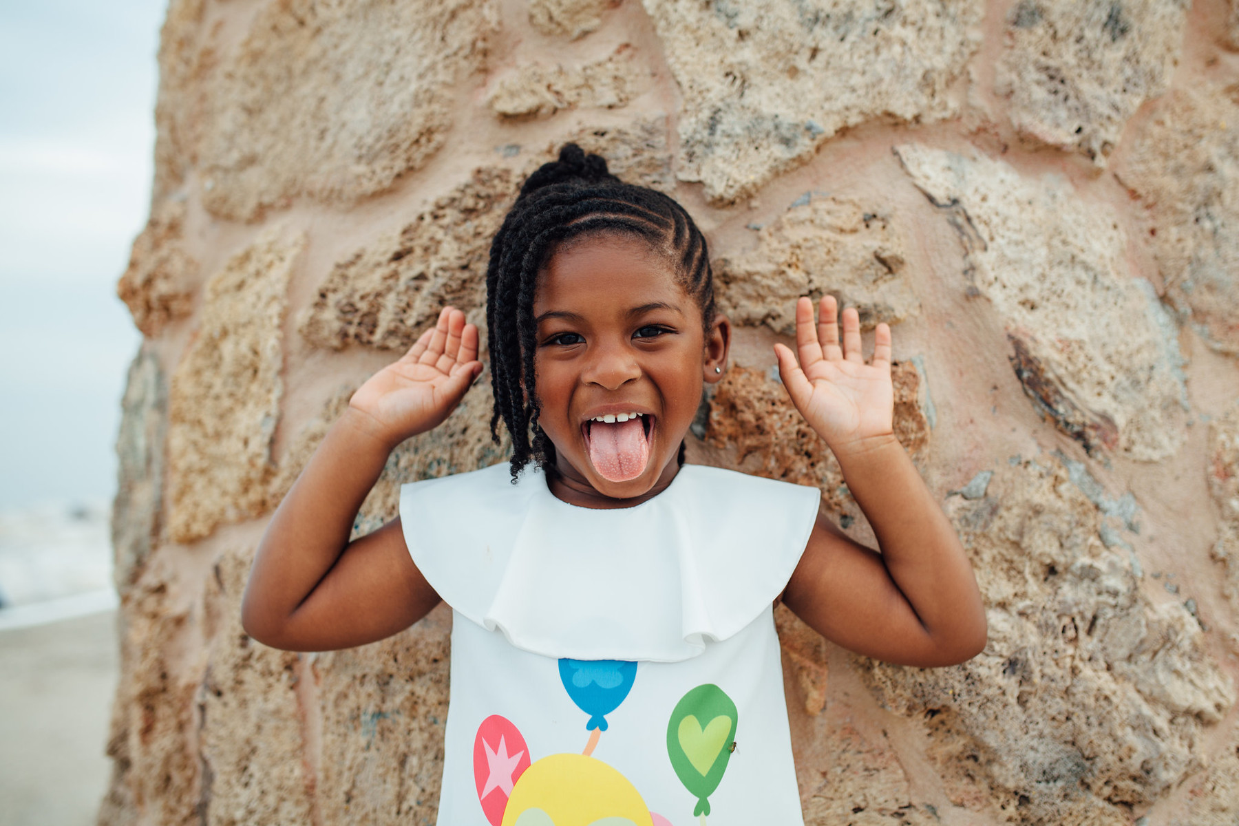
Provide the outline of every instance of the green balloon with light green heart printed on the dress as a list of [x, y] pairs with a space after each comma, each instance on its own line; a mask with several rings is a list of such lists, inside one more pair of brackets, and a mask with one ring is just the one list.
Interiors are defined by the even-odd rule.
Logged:
[[709, 815], [709, 796], [719, 788], [736, 744], [736, 703], [714, 684], [680, 697], [667, 722], [667, 754], [684, 788], [698, 799], [693, 816]]

